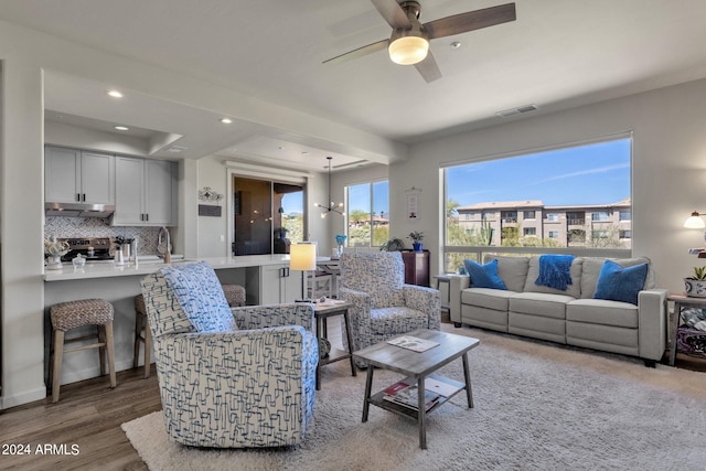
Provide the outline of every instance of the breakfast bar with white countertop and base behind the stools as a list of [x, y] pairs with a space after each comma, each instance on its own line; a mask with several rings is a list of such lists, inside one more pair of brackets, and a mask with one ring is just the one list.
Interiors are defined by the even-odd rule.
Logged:
[[[135, 296], [140, 293], [140, 279], [168, 266], [207, 261], [222, 283], [240, 285], [246, 289], [247, 304], [287, 302], [302, 296], [301, 271], [289, 270], [289, 255], [250, 255], [200, 259], [172, 258], [164, 264], [157, 257], [138, 258], [138, 264], [87, 264], [84, 268], [64, 265], [62, 269], [44, 270], [44, 361], [49, 378], [49, 353], [52, 328], [49, 309], [52, 304], [79, 299], [99, 298], [115, 308], [114, 343], [116, 370], [132, 367], [135, 346]], [[82, 328], [83, 329], [83, 328]], [[84, 329], [86, 332], [88, 328]], [[86, 334], [86, 332], [77, 332]], [[64, 357], [62, 384], [100, 374], [94, 352], [75, 352]], [[141, 356], [141, 355], [140, 355]], [[142, 360], [142, 358], [140, 358]], [[141, 364], [141, 363], [140, 363]], [[120, 385], [118, 384], [118, 387]]]

